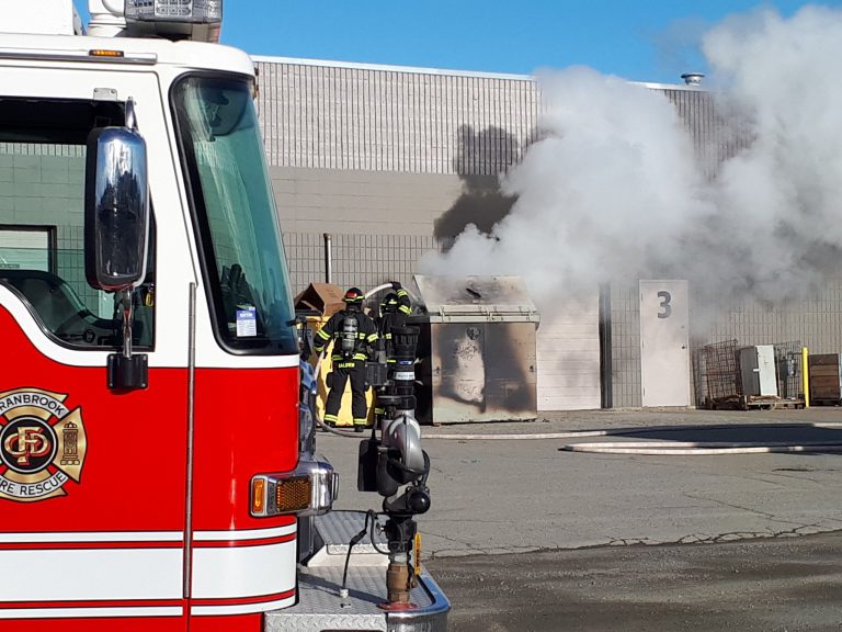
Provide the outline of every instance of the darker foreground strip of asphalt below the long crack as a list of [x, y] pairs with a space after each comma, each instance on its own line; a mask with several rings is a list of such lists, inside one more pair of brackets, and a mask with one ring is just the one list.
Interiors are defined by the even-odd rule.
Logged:
[[450, 632], [839, 632], [842, 534], [442, 557]]

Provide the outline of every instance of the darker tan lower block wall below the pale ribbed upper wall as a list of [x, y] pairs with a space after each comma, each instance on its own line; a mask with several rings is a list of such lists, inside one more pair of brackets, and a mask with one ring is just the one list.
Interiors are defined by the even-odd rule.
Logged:
[[491, 176], [270, 167], [270, 177], [293, 293], [325, 280], [325, 233], [335, 283], [408, 283], [423, 255], [442, 251], [469, 223], [490, 227], [500, 201], [511, 204]]

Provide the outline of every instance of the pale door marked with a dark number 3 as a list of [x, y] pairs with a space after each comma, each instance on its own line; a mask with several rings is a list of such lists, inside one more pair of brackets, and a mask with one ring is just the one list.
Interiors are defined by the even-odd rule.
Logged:
[[640, 281], [645, 407], [690, 406], [689, 298], [686, 281]]

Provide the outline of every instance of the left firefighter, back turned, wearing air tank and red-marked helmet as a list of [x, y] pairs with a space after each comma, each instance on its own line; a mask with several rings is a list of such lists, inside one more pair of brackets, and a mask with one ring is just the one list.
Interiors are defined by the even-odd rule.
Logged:
[[328, 375], [328, 400], [325, 404], [325, 422], [335, 426], [339, 421], [339, 408], [345, 384], [351, 380], [351, 413], [354, 419], [354, 430], [365, 430], [368, 409], [365, 403], [365, 361], [369, 357], [369, 347], [377, 340], [377, 327], [363, 313], [365, 295], [357, 289], [351, 287], [342, 301], [345, 308], [337, 312], [317, 334], [314, 348], [317, 353], [333, 342], [331, 360], [333, 371]]

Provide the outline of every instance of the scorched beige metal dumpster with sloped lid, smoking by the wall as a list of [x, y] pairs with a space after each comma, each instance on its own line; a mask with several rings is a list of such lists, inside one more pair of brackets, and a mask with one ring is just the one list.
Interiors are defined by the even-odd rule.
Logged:
[[419, 421], [507, 421], [537, 416], [538, 312], [520, 276], [416, 275], [421, 328]]

